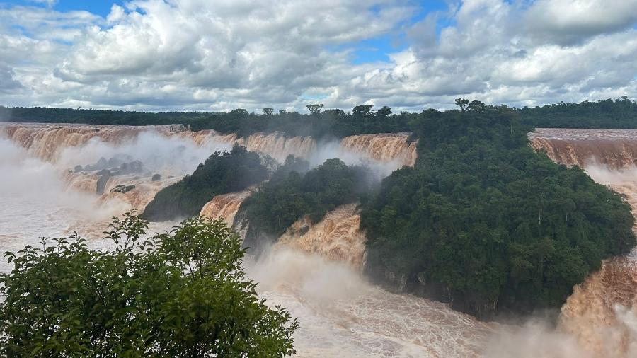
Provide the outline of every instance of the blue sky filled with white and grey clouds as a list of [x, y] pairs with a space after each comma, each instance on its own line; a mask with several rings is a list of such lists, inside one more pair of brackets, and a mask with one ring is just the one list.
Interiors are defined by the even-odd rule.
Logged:
[[0, 1], [0, 105], [637, 99], [637, 0]]

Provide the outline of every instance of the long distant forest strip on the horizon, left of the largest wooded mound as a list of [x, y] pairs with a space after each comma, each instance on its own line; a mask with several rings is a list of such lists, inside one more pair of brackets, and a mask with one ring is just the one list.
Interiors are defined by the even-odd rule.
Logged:
[[309, 105], [309, 114], [263, 108], [263, 113], [236, 109], [211, 112], [128, 112], [121, 110], [82, 110], [71, 108], [6, 108], [0, 106], [0, 122], [85, 123], [89, 125], [190, 125], [193, 130], [214, 129], [237, 133], [241, 137], [256, 132], [285, 132], [292, 136], [345, 137], [352, 134], [409, 132], [413, 113], [391, 115], [391, 108], [377, 111], [372, 105], [357, 105], [351, 112], [321, 111], [322, 105]]

